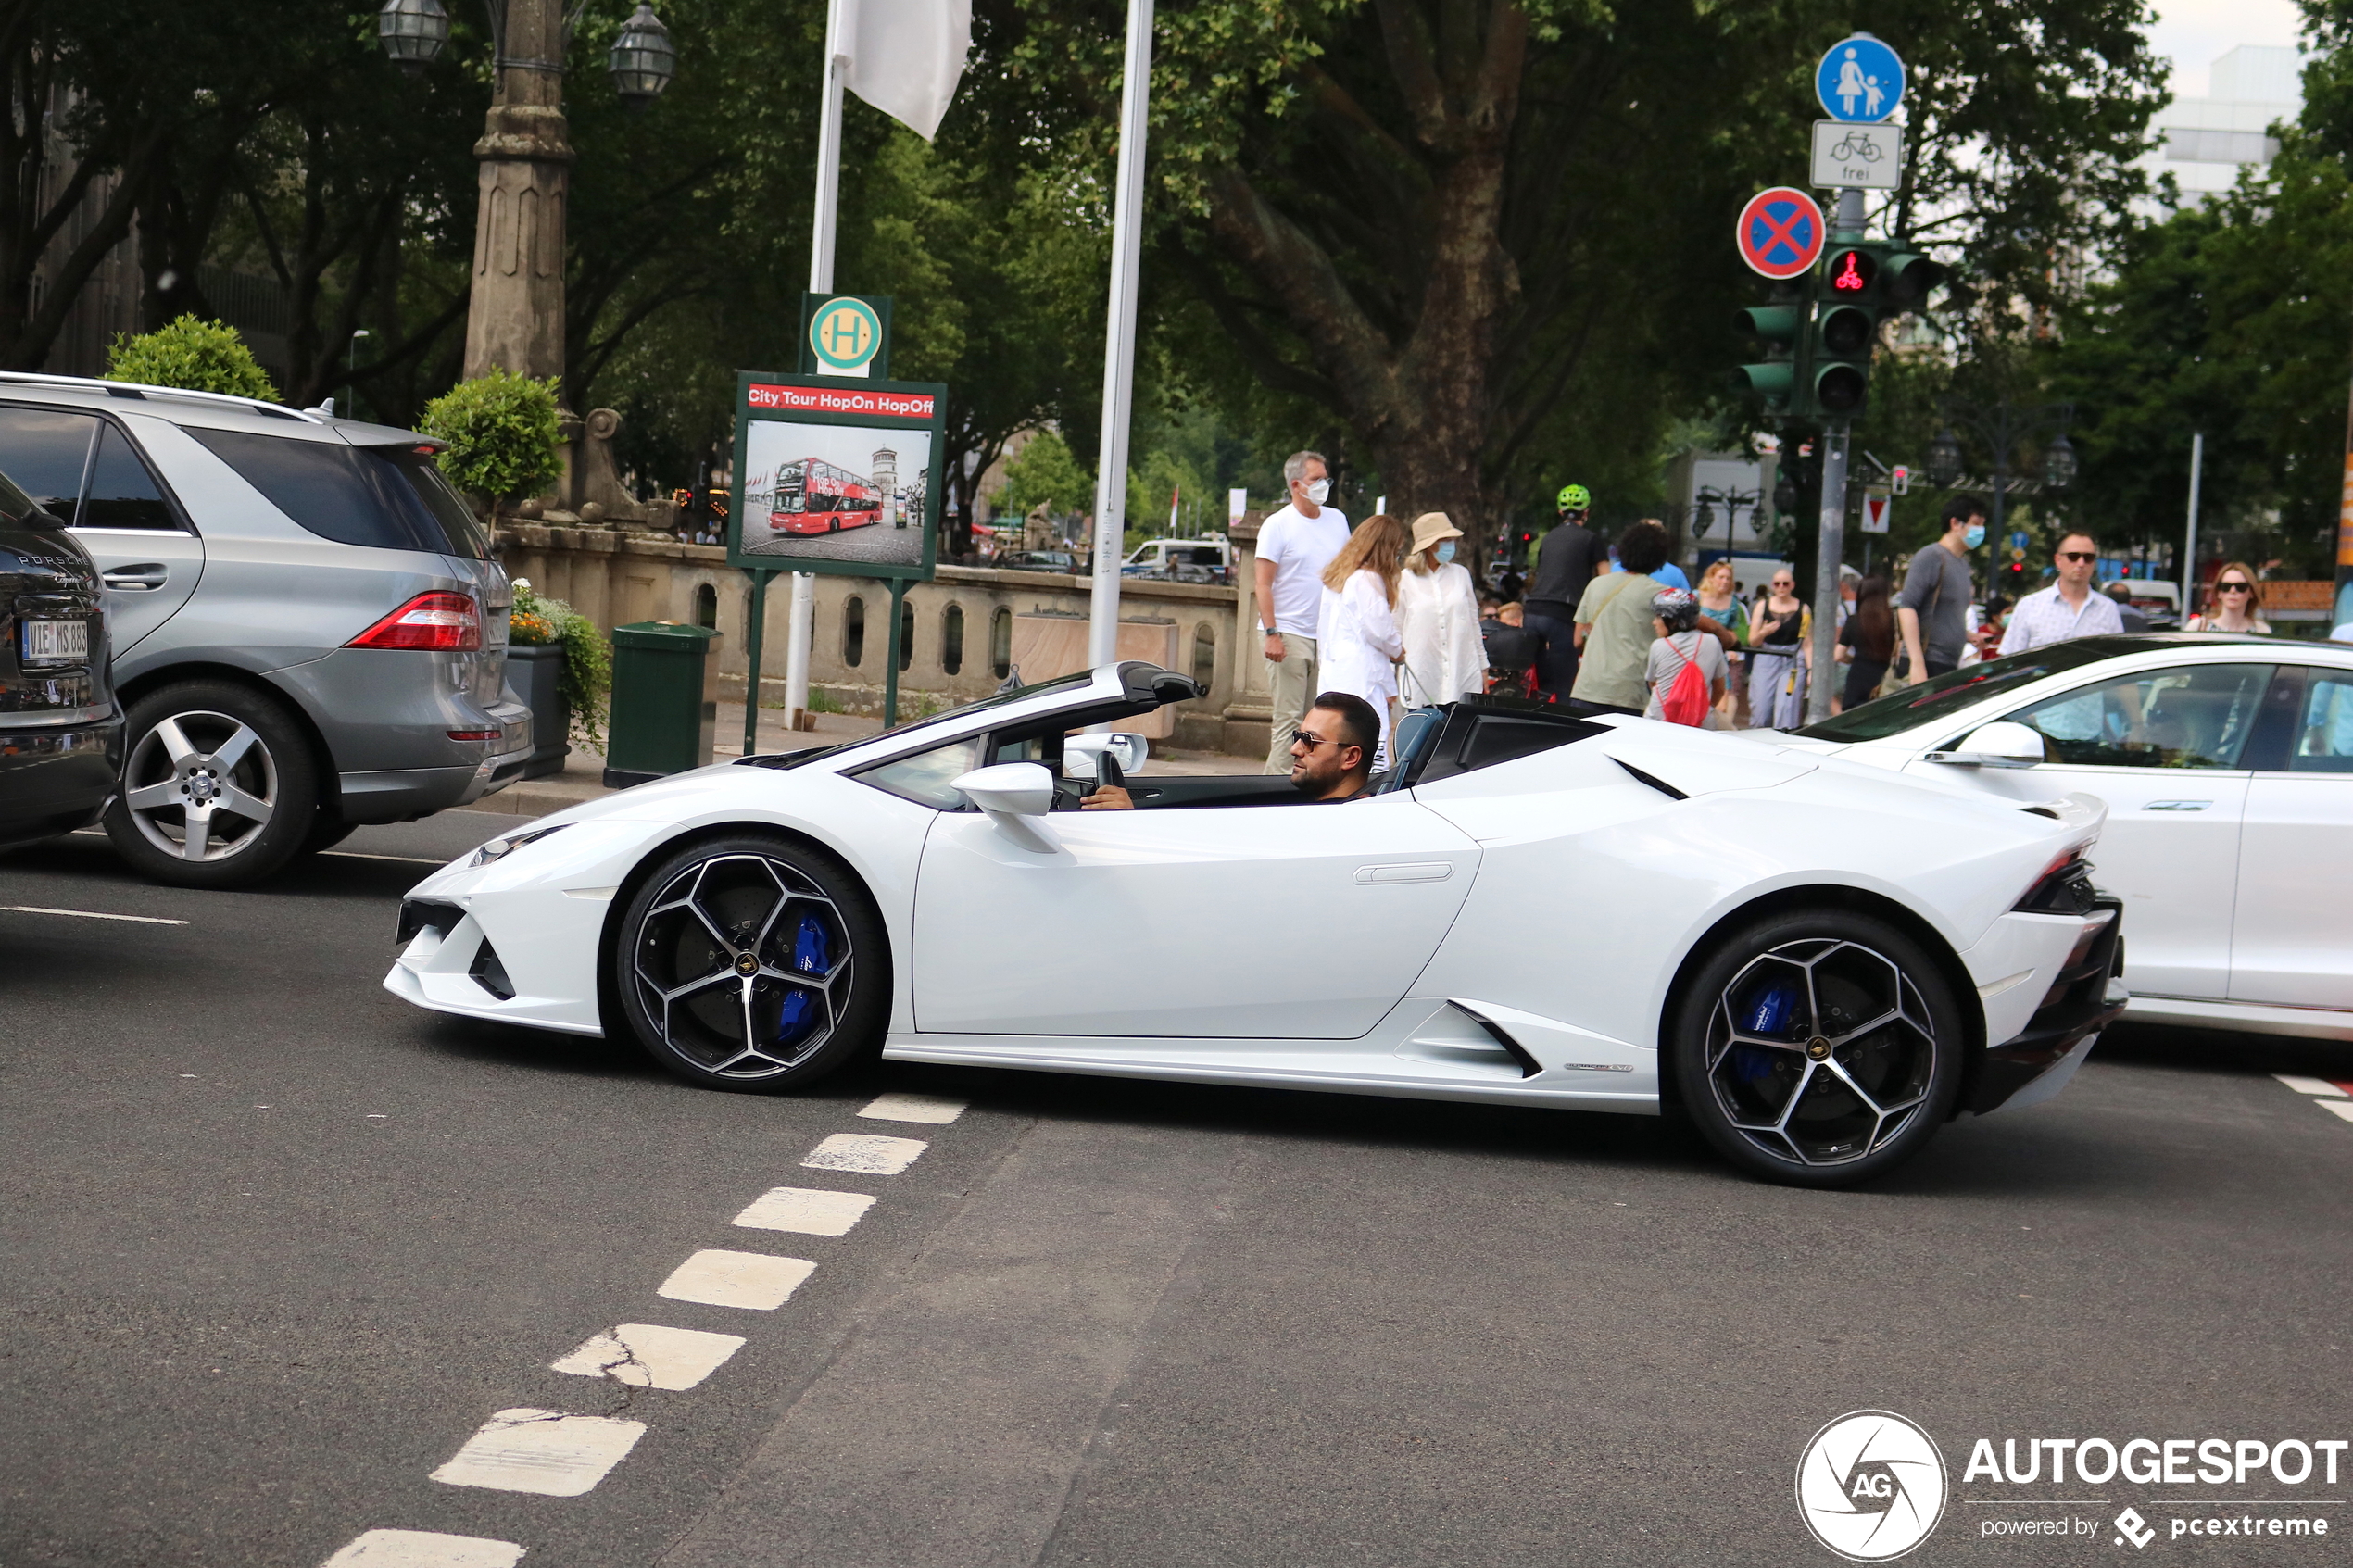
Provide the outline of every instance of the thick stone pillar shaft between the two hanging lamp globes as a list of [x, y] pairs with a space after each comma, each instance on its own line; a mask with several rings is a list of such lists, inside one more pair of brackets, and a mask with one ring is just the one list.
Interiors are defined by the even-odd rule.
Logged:
[[466, 376], [565, 374], [562, 0], [508, 0], [504, 56], [482, 139]]

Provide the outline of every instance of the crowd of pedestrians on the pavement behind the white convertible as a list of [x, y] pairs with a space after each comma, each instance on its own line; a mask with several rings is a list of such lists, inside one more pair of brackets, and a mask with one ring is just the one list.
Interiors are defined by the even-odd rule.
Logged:
[[[1984, 599], [1969, 557], [1986, 543], [1986, 503], [1953, 496], [1939, 536], [1901, 578], [1840, 569], [1833, 658], [1814, 670], [1814, 611], [1791, 567], [1744, 597], [1718, 557], [1699, 585], [1675, 567], [1666, 524], [1645, 517], [1617, 538], [1591, 524], [1593, 491], [1567, 484], [1555, 527], [1520, 578], [1473, 578], [1445, 512], [1407, 524], [1377, 512], [1348, 529], [1329, 503], [1329, 465], [1299, 451], [1282, 465], [1289, 503], [1259, 531], [1257, 604], [1273, 665], [1268, 773], [1297, 769], [1308, 710], [1348, 696], [1365, 715], [1367, 769], [1391, 764], [1398, 719], [1464, 696], [1579, 703], [1711, 729], [1798, 729], [1814, 679], [1833, 679], [1831, 710], [1962, 663], [2024, 654], [2071, 637], [2148, 630], [2127, 583], [2097, 585], [2099, 543], [2061, 534], [2054, 581], [2007, 604]], [[2268, 632], [2252, 567], [2228, 562], [2186, 630]], [[1311, 696], [1313, 693], [1313, 696]], [[1313, 755], [1313, 745], [1308, 748]]]

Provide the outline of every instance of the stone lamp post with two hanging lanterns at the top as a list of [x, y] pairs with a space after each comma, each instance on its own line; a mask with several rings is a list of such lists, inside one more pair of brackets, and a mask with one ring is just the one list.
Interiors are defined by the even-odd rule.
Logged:
[[[518, 376], [565, 371], [565, 42], [586, 0], [482, 0], [496, 80], [482, 139], [473, 228], [473, 294], [466, 306], [466, 376], [492, 367]], [[440, 0], [386, 0], [376, 40], [407, 71], [424, 71], [449, 42]], [[652, 5], [638, 5], [607, 68], [621, 96], [642, 106], [671, 82], [678, 52]]]

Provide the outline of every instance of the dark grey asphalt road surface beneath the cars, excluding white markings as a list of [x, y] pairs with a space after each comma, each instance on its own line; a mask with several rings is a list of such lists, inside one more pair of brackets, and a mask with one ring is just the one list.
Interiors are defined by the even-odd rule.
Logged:
[[[311, 1568], [386, 1528], [529, 1568], [1835, 1563], [1793, 1472], [1859, 1408], [1951, 1472], [1906, 1561], [2346, 1556], [2353, 1460], [1962, 1467], [1979, 1436], [2353, 1439], [2353, 1121], [2271, 1077], [2353, 1051], [2118, 1032], [1849, 1194], [1673, 1119], [904, 1065], [722, 1095], [379, 987], [400, 891], [501, 825], [367, 830], [249, 893], [87, 837], [0, 858], [0, 905], [186, 922], [0, 910], [0, 1563]], [[861, 1117], [882, 1093], [969, 1110]], [[925, 1147], [800, 1164], [842, 1133]], [[774, 1187], [875, 1204], [732, 1222]], [[816, 1267], [776, 1309], [656, 1295], [704, 1248]], [[692, 1389], [551, 1371], [624, 1324], [744, 1345]], [[581, 1495], [431, 1479], [518, 1408], [642, 1432]], [[2337, 1533], [2169, 1535], [2209, 1502]], [[2049, 1519], [2097, 1535], [1988, 1535]]]

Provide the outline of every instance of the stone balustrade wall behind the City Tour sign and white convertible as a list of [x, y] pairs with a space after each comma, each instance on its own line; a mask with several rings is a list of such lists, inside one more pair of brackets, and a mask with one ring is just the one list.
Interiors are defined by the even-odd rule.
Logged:
[[[631, 621], [685, 621], [718, 628], [720, 689], [741, 698], [748, 658], [751, 581], [727, 564], [718, 545], [685, 545], [664, 534], [600, 527], [518, 522], [496, 534], [511, 576], [529, 578], [551, 599], [565, 599], [598, 630]], [[1249, 557], [1238, 571], [1249, 583]], [[934, 581], [906, 592], [913, 637], [901, 654], [899, 715], [984, 698], [1005, 679], [1016, 616], [1087, 616], [1085, 578], [1045, 571], [941, 567]], [[760, 701], [784, 701], [784, 649], [793, 614], [791, 578], [767, 592], [760, 656]], [[1174, 668], [1209, 686], [1209, 698], [1186, 703], [1172, 743], [1188, 750], [1266, 750], [1266, 661], [1249, 635], [1249, 592], [1202, 583], [1120, 585], [1120, 618], [1169, 623]], [[819, 576], [812, 637], [812, 703], [842, 712], [882, 712], [889, 649], [889, 585], [878, 578]], [[1240, 658], [1238, 658], [1240, 656]], [[1240, 670], [1240, 679], [1235, 679]], [[1040, 670], [1024, 675], [1038, 677]]]

